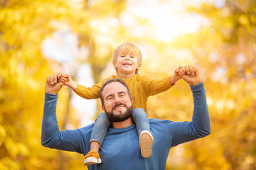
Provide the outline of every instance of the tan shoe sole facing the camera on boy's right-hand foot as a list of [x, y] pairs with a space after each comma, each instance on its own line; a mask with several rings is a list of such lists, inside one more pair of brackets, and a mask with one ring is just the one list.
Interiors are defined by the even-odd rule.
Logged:
[[148, 133], [139, 135], [139, 146], [141, 147], [142, 157], [148, 158], [152, 154], [153, 139]]

